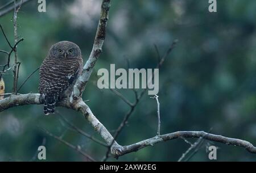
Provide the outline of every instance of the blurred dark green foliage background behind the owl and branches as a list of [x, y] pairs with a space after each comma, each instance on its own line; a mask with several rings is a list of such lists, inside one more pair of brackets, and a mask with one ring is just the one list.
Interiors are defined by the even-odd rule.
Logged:
[[[1, 1], [0, 6], [7, 1]], [[19, 85], [42, 63], [52, 44], [69, 40], [88, 59], [96, 33], [101, 1], [47, 1], [47, 12], [38, 12], [37, 1], [22, 6], [18, 14], [21, 62]], [[208, 11], [207, 0], [112, 1], [103, 53], [83, 98], [102, 124], [113, 132], [129, 111], [118, 96], [97, 88], [97, 70], [154, 68], [179, 40], [159, 73], [162, 134], [177, 130], [210, 129], [214, 134], [241, 138], [256, 145], [256, 1], [217, 1], [217, 12]], [[7, 37], [14, 41], [13, 12], [0, 18]], [[0, 34], [0, 49], [9, 50]], [[6, 55], [0, 54], [1, 64]], [[13, 58], [12, 58], [13, 60]], [[12, 61], [13, 62], [13, 61]], [[3, 75], [6, 92], [13, 77]], [[19, 91], [38, 92], [39, 74], [32, 75]], [[118, 90], [134, 101], [132, 90]], [[140, 90], [139, 90], [140, 91]], [[40, 126], [100, 160], [106, 148], [67, 128], [58, 114], [44, 116], [42, 106], [15, 107], [0, 113], [0, 161], [38, 161], [34, 156], [44, 141], [47, 161], [85, 161], [75, 150], [48, 136]], [[92, 126], [75, 111], [57, 112], [101, 140]], [[155, 136], [156, 103], [144, 95], [117, 142], [129, 145]], [[194, 142], [193, 139], [188, 139]], [[237, 146], [204, 141], [189, 161], [209, 161], [207, 146], [215, 145], [217, 161], [256, 161], [256, 155]], [[182, 139], [162, 142], [109, 161], [177, 161], [189, 145]]]

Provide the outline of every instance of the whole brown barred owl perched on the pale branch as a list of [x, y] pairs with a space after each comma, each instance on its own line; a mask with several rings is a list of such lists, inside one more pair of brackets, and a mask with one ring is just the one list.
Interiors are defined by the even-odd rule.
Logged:
[[70, 41], [52, 45], [39, 72], [39, 93], [44, 98], [44, 114], [54, 113], [56, 102], [71, 95], [81, 72], [82, 56], [78, 45]]

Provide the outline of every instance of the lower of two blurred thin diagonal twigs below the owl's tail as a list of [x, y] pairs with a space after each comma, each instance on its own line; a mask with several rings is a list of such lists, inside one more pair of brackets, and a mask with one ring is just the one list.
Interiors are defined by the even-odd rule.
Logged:
[[55, 136], [54, 134], [52, 134], [51, 132], [49, 132], [48, 130], [41, 128], [46, 134], [48, 134], [49, 136], [55, 138], [56, 140], [60, 141], [61, 143], [67, 145], [68, 147], [70, 147], [73, 150], [76, 150], [78, 153], [80, 153], [81, 155], [83, 155], [86, 159], [88, 159], [89, 161], [95, 162], [95, 160], [90, 157], [90, 155], [86, 154], [84, 151], [81, 150], [81, 148], [79, 146], [74, 146], [72, 144], [70, 144], [69, 142], [63, 140], [60, 137]]

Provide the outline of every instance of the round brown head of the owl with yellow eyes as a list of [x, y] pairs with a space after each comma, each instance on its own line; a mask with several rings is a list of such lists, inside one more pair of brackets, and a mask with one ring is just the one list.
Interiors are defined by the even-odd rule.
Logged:
[[78, 45], [71, 41], [60, 41], [52, 45], [49, 50], [49, 57], [77, 58], [81, 57], [81, 50]]

